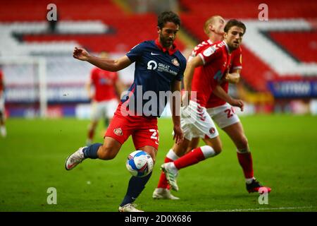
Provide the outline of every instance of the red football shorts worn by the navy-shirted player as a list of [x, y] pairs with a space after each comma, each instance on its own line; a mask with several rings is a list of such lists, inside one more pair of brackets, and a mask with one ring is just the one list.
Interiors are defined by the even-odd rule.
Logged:
[[120, 106], [116, 109], [105, 136], [109, 136], [123, 144], [132, 135], [135, 150], [149, 145], [159, 148], [159, 130], [156, 117], [123, 116]]

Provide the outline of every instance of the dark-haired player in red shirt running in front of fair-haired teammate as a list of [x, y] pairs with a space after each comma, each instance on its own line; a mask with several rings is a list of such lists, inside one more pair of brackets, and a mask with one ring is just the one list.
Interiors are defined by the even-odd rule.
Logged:
[[[246, 27], [242, 22], [230, 20], [224, 28], [224, 41], [202, 45], [197, 49], [197, 56], [187, 64], [184, 85], [190, 101], [182, 109], [181, 117], [185, 140], [180, 145], [174, 145], [173, 150], [175, 153], [178, 153], [178, 150], [184, 152], [193, 137], [203, 138], [206, 145], [195, 148], [173, 162], [161, 165], [168, 184], [175, 191], [178, 191], [176, 178], [179, 169], [216, 156], [222, 150], [216, 126], [206, 112], [206, 104], [211, 93], [214, 92], [230, 105], [243, 109], [241, 100], [232, 99], [217, 84], [230, 69], [231, 53], [240, 47], [245, 30]], [[192, 97], [192, 91], [196, 91], [196, 98]]]

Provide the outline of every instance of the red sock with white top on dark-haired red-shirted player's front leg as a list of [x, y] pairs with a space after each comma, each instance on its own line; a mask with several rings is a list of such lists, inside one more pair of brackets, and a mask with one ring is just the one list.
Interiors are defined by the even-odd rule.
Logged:
[[178, 160], [174, 161], [174, 165], [177, 169], [182, 169], [188, 167], [189, 165], [194, 165], [206, 158], [215, 156], [216, 153], [209, 145], [205, 145], [199, 148], [195, 148], [191, 152], [183, 155]]

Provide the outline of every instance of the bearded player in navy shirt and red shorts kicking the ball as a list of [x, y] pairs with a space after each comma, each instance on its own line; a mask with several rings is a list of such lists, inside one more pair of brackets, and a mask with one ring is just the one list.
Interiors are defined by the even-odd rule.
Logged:
[[[162, 94], [173, 93], [180, 100], [180, 84], [186, 68], [186, 59], [173, 43], [180, 29], [180, 18], [173, 12], [159, 15], [157, 40], [142, 42], [128, 54], [117, 60], [101, 59], [89, 54], [85, 49], [75, 47], [73, 57], [88, 61], [106, 71], [119, 71], [135, 62], [135, 79], [128, 95], [122, 97], [104, 136], [104, 144], [94, 143], [79, 148], [68, 156], [66, 169], [73, 169], [86, 158], [111, 160], [118, 154], [121, 145], [132, 135], [136, 150], [144, 150], [156, 160], [159, 147], [157, 117], [163, 112], [168, 97]], [[178, 91], [178, 92], [177, 92]], [[147, 94], [147, 95], [144, 95]], [[147, 105], [151, 95], [151, 107]], [[156, 95], [156, 98], [153, 96]], [[183, 139], [180, 128], [180, 105], [172, 101], [174, 139]], [[156, 101], [153, 101], [156, 100]], [[151, 173], [146, 177], [131, 177], [128, 191], [120, 204], [120, 212], [140, 212], [133, 202], [143, 191]]]

